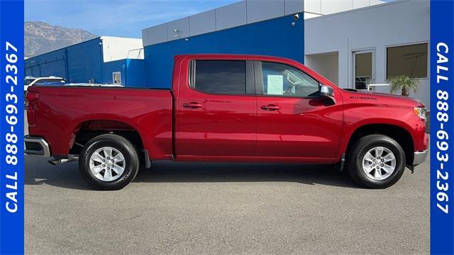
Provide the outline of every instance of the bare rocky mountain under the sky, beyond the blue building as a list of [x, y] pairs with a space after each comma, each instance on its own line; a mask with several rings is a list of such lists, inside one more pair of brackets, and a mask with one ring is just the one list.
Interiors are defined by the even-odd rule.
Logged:
[[80, 28], [63, 28], [40, 21], [24, 23], [25, 57], [57, 50], [98, 37]]

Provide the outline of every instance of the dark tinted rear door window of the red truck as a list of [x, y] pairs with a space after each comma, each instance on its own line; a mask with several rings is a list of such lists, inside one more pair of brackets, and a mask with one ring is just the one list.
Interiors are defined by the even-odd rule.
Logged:
[[245, 94], [246, 62], [197, 60], [194, 88], [214, 94]]

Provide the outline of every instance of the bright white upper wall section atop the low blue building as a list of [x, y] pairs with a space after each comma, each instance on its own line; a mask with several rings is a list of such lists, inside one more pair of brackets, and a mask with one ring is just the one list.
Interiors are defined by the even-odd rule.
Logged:
[[142, 39], [101, 36], [104, 62], [126, 58], [143, 60]]

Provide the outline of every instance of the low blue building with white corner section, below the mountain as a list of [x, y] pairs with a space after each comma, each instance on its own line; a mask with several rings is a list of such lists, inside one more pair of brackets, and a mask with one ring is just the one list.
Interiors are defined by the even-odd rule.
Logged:
[[142, 40], [101, 36], [25, 60], [28, 77], [145, 86]]

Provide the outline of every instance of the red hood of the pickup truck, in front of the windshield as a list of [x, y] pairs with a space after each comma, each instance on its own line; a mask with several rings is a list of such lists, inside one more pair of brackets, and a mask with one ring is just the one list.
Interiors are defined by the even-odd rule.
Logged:
[[[415, 99], [408, 96], [401, 96], [389, 93], [380, 93], [380, 92], [372, 92], [372, 91], [358, 91], [356, 89], [343, 89], [351, 99], [359, 99], [359, 100], [380, 100], [386, 101], [392, 104], [397, 105], [406, 105], [412, 107], [425, 107], [424, 104]], [[384, 103], [384, 102], [383, 102]]]

